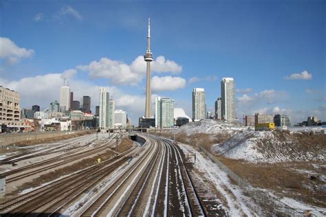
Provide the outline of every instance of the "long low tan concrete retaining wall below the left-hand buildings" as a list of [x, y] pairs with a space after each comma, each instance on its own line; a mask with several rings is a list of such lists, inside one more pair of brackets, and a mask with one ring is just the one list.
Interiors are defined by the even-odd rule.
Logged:
[[60, 137], [84, 131], [56, 131], [56, 132], [35, 132], [35, 133], [12, 133], [7, 135], [0, 135], [0, 146], [15, 144], [19, 141], [30, 141], [36, 139], [49, 139], [53, 137]]

